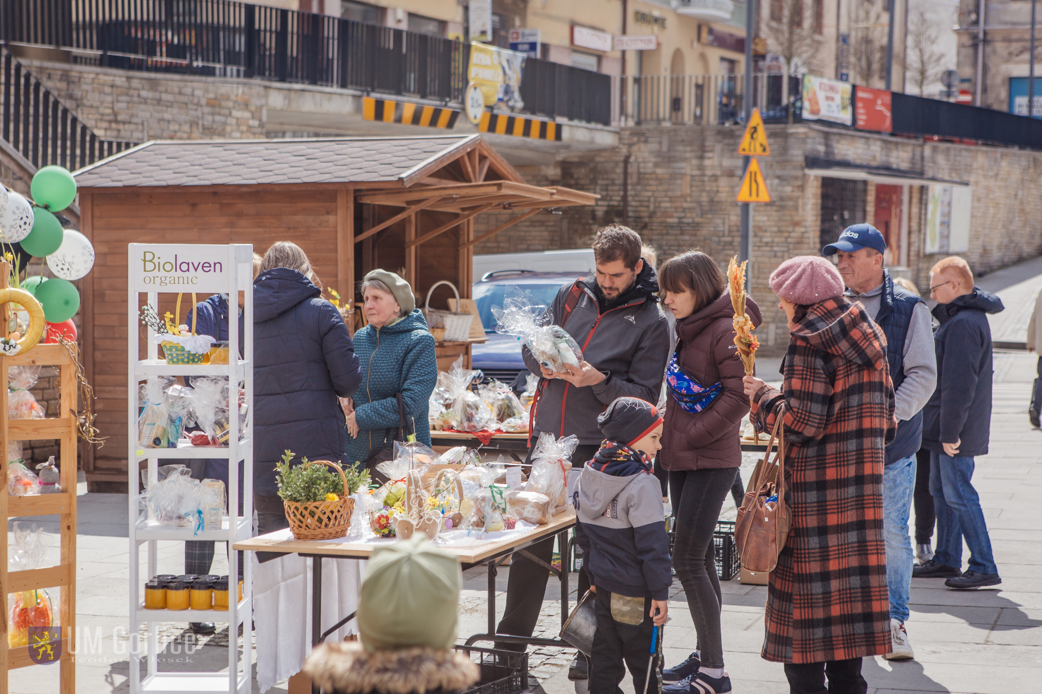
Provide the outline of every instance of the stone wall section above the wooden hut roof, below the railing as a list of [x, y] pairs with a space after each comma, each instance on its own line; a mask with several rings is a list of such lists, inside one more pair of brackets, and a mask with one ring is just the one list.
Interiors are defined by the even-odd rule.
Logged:
[[23, 63], [99, 137], [143, 143], [265, 136], [265, 84], [258, 80]]

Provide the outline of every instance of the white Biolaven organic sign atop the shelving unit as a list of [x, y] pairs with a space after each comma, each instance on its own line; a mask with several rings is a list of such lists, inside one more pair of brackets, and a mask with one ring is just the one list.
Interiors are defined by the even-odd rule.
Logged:
[[227, 291], [227, 246], [131, 243], [128, 261], [138, 291]]

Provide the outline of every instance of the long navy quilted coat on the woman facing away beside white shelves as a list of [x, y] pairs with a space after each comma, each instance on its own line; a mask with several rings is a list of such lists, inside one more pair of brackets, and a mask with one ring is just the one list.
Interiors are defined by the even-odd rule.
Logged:
[[276, 267], [253, 282], [253, 493], [275, 496], [275, 463], [296, 458], [342, 462], [344, 413], [362, 372], [340, 312], [295, 269]]

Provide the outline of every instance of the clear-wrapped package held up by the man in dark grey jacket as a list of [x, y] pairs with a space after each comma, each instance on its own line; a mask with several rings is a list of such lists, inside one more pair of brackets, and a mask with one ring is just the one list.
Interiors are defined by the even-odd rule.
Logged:
[[524, 340], [531, 355], [545, 368], [562, 374], [565, 366], [578, 366], [582, 351], [568, 332], [552, 325], [552, 311], [531, 300], [516, 286], [506, 288], [502, 307], [493, 306], [496, 332]]

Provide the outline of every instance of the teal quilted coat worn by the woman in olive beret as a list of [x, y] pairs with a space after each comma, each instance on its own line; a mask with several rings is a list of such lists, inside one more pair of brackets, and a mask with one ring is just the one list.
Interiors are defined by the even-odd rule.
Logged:
[[388, 429], [397, 433], [397, 392], [410, 423], [416, 422], [416, 439], [430, 445], [427, 402], [438, 383], [438, 359], [423, 313], [414, 309], [392, 326], [366, 326], [354, 334], [354, 350], [362, 363], [362, 386], [354, 393], [358, 437], [348, 436], [345, 459], [365, 461], [383, 444]]

